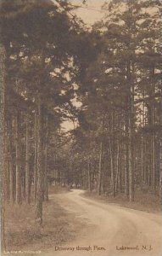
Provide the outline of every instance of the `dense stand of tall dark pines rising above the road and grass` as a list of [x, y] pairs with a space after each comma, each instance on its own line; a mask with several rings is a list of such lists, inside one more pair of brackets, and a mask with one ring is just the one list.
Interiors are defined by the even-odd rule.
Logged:
[[162, 197], [162, 3], [112, 0], [92, 27], [75, 9], [1, 4], [3, 195], [37, 224], [51, 184]]

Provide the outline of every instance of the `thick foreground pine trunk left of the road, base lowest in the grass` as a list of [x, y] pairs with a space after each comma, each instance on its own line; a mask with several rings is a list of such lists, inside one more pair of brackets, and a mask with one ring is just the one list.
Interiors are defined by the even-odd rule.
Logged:
[[36, 188], [36, 224], [42, 225], [42, 184], [43, 184], [43, 140], [42, 140], [42, 101], [38, 98], [37, 110], [37, 188]]

